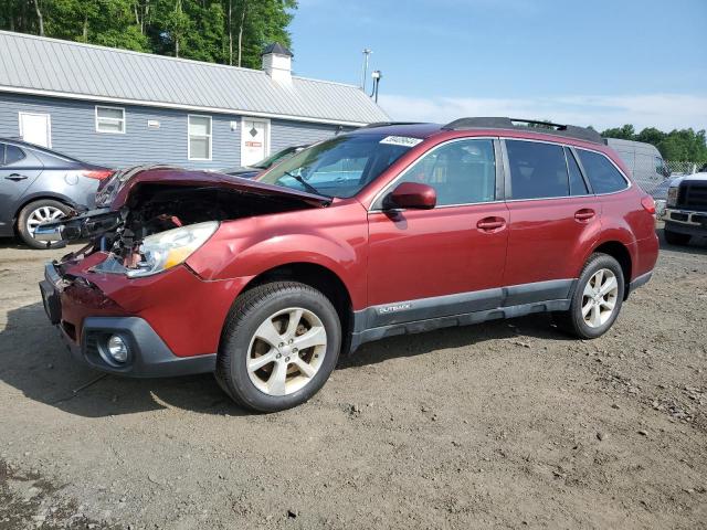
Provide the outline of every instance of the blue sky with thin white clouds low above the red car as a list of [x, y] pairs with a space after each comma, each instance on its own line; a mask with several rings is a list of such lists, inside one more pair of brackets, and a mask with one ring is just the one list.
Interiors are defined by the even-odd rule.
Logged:
[[707, 0], [299, 0], [297, 75], [380, 70], [397, 120], [707, 128]]

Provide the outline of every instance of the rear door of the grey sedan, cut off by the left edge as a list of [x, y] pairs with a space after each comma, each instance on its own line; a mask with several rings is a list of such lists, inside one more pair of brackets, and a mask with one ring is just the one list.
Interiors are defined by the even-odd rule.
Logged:
[[12, 233], [12, 220], [22, 195], [42, 169], [42, 162], [30, 150], [0, 144], [0, 232]]

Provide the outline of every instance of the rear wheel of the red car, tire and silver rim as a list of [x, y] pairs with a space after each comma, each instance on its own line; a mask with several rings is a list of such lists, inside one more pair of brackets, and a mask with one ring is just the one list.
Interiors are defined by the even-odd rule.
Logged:
[[577, 280], [570, 309], [557, 314], [556, 321], [571, 335], [595, 339], [613, 326], [623, 295], [623, 269], [619, 262], [608, 254], [592, 254]]

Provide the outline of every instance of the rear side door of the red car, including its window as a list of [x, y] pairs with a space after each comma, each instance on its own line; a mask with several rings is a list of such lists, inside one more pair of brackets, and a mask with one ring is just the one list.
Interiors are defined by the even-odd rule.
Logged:
[[507, 305], [562, 299], [601, 227], [601, 205], [590, 192], [572, 148], [504, 140], [509, 215]]

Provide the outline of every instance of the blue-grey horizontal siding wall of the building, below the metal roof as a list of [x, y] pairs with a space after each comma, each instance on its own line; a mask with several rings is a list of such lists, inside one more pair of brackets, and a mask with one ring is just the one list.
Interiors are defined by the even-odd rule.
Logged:
[[[125, 108], [126, 132], [96, 132], [96, 105]], [[19, 137], [20, 112], [49, 114], [52, 149], [88, 162], [114, 168], [138, 163], [171, 163], [193, 169], [222, 169], [241, 163], [241, 116], [235, 114], [190, 113], [0, 93], [0, 137]], [[212, 117], [212, 160], [188, 160], [189, 114]], [[159, 128], [148, 128], [148, 120], [159, 121]], [[238, 123], [235, 130], [231, 130], [231, 121]], [[272, 119], [271, 152], [292, 145], [318, 141], [338, 134], [340, 129], [336, 125]]]

